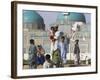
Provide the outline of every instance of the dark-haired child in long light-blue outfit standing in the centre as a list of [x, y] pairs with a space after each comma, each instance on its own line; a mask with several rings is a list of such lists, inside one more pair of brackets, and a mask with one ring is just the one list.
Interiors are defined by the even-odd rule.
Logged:
[[61, 51], [61, 60], [62, 63], [66, 63], [66, 54], [67, 54], [67, 42], [65, 42], [65, 37], [61, 37], [61, 41], [59, 43], [60, 51]]

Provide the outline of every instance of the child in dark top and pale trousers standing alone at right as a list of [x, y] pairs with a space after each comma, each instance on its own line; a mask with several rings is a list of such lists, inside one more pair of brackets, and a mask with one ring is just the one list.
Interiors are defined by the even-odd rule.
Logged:
[[80, 48], [79, 48], [79, 40], [75, 40], [75, 47], [74, 47], [74, 55], [75, 55], [75, 61], [74, 63], [79, 65], [80, 64]]

